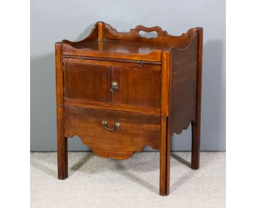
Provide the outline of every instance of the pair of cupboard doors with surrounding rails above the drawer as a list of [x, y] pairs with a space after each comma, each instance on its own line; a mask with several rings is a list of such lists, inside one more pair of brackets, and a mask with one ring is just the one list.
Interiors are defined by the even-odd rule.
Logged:
[[63, 63], [64, 105], [160, 114], [160, 66], [78, 61]]

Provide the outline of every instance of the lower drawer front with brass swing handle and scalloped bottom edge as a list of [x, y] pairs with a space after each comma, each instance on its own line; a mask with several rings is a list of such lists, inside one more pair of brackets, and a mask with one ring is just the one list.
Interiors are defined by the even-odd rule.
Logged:
[[124, 160], [145, 145], [160, 149], [159, 115], [64, 106], [63, 121], [65, 137], [78, 136], [101, 157]]

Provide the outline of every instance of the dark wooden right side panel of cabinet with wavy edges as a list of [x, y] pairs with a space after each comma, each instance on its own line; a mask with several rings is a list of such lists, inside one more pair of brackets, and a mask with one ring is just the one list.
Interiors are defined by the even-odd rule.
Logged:
[[197, 108], [198, 33], [184, 50], [172, 48], [170, 131], [181, 133], [195, 121]]

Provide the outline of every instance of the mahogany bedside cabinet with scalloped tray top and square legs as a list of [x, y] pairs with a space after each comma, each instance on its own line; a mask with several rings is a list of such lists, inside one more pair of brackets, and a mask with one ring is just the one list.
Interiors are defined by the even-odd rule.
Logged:
[[117, 160], [149, 145], [160, 150], [160, 195], [168, 195], [170, 139], [190, 124], [191, 168], [199, 168], [202, 28], [171, 36], [97, 22], [87, 38], [57, 42], [55, 52], [59, 179], [68, 177], [67, 138]]

